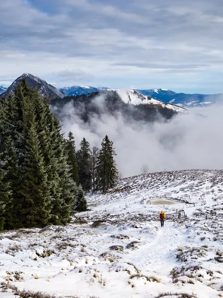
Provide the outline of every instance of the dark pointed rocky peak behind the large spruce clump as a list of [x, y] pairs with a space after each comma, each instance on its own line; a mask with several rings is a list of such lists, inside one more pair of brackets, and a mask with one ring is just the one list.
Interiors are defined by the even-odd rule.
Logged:
[[40, 79], [37, 76], [34, 76], [32, 74], [22, 74], [21, 76], [19, 76], [18, 78], [16, 78], [16, 80], [13, 81], [13, 83], [7, 88], [7, 90], [3, 93], [0, 94], [0, 98], [2, 96], [7, 97], [9, 95], [10, 92], [14, 92], [15, 88], [17, 87], [17, 85], [19, 84], [19, 82], [25, 78], [28, 86], [31, 89], [37, 88], [39, 90], [39, 93], [41, 94], [41, 96], [46, 96], [48, 97], [50, 100], [51, 99], [55, 99], [55, 98], [62, 98], [64, 97], [64, 93], [55, 88], [54, 86], [48, 84], [46, 81]]

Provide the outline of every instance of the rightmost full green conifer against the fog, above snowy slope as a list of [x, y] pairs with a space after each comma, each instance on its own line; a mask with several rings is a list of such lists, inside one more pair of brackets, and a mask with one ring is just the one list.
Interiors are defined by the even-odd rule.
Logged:
[[115, 186], [118, 171], [113, 158], [116, 155], [113, 142], [108, 139], [108, 136], [105, 136], [101, 146], [97, 162], [97, 186], [102, 192], [106, 192], [109, 188]]

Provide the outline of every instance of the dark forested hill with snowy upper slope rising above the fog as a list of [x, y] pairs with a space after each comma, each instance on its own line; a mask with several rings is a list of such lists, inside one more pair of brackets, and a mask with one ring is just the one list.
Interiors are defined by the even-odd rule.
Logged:
[[51, 101], [51, 106], [60, 119], [66, 117], [67, 112], [70, 113], [70, 105], [74, 107], [75, 115], [84, 122], [92, 115], [116, 115], [118, 112], [121, 112], [126, 120], [152, 122], [158, 121], [160, 116], [162, 119], [170, 119], [179, 112], [186, 112], [184, 108], [163, 103], [133, 90], [103, 90]]

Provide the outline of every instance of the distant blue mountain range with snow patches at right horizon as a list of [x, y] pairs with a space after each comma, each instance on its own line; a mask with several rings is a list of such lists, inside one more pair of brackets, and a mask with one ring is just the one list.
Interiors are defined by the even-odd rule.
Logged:
[[186, 94], [176, 93], [168, 89], [149, 89], [136, 91], [150, 96], [154, 99], [159, 99], [163, 102], [174, 103], [182, 107], [203, 107], [212, 105], [216, 102], [223, 101], [223, 94]]

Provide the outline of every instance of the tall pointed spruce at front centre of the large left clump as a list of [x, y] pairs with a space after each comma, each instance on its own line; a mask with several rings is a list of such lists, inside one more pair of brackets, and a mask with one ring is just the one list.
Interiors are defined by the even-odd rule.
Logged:
[[26, 100], [26, 146], [24, 155], [23, 184], [21, 194], [25, 206], [23, 226], [42, 227], [50, 223], [51, 197], [47, 184], [47, 172], [38, 139], [35, 114], [31, 102]]

